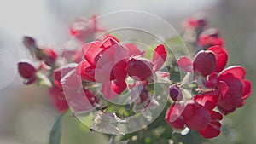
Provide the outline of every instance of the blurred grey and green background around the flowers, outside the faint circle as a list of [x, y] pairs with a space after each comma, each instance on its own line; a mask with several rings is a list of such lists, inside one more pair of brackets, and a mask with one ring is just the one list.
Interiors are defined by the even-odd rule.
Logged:
[[[25, 86], [17, 73], [16, 63], [30, 58], [22, 45], [29, 35], [42, 45], [60, 50], [69, 40], [68, 27], [79, 16], [107, 14], [118, 10], [141, 10], [156, 14], [175, 29], [196, 12], [203, 12], [210, 26], [218, 27], [225, 46], [230, 50], [229, 65], [247, 70], [256, 88], [256, 1], [255, 0], [23, 0], [0, 2], [0, 144], [46, 144], [49, 130], [59, 115], [52, 106], [47, 90], [35, 85]], [[119, 21], [119, 22], [125, 22]], [[138, 20], [137, 23], [143, 20]], [[154, 25], [154, 23], [152, 24]], [[224, 118], [231, 130], [210, 143], [248, 144], [256, 141], [256, 95], [246, 105]], [[81, 129], [75, 118], [64, 121], [62, 142], [108, 143], [107, 138]], [[88, 141], [90, 139], [90, 141]]]

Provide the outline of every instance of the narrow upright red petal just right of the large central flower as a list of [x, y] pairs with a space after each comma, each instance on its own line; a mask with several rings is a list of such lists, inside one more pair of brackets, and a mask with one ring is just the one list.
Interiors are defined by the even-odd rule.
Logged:
[[164, 65], [167, 57], [166, 48], [163, 44], [158, 45], [154, 49], [154, 55], [152, 59], [152, 63], [154, 64], [153, 71], [157, 71]]

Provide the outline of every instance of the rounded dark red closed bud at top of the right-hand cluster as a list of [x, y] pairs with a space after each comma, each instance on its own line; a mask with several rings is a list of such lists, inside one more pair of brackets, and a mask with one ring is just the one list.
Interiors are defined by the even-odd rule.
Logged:
[[216, 58], [211, 51], [200, 51], [195, 55], [193, 70], [206, 77], [214, 72], [216, 68]]

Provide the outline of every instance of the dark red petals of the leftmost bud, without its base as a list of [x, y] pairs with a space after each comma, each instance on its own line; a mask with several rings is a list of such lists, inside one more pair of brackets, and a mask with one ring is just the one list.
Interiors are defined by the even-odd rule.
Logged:
[[22, 78], [33, 78], [36, 73], [36, 68], [28, 62], [19, 62], [18, 71]]

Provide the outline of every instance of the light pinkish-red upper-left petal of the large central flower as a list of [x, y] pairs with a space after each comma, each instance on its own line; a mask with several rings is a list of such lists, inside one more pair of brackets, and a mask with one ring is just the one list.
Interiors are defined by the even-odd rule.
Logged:
[[99, 41], [92, 42], [92, 43], [86, 43], [83, 46], [82, 53], [84, 55], [84, 59], [87, 60], [90, 65], [96, 65], [95, 59], [98, 55], [102, 53], [102, 48], [100, 48], [100, 45], [102, 43]]

